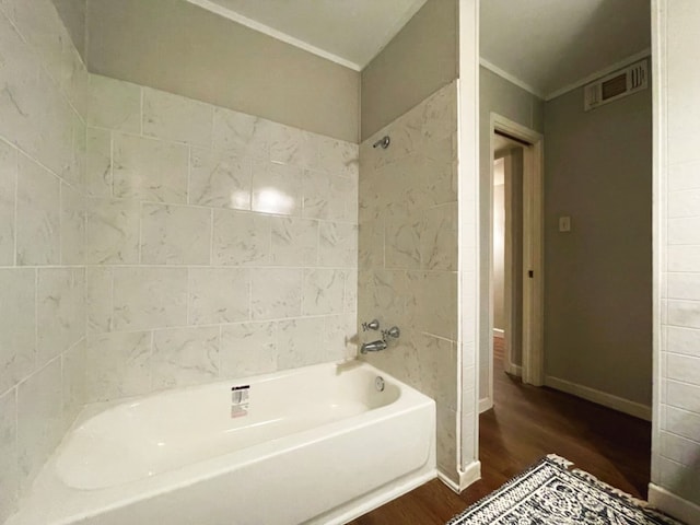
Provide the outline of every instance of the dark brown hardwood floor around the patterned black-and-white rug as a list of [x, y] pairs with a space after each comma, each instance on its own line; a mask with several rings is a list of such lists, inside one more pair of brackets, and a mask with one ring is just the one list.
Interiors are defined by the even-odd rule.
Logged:
[[[497, 339], [497, 343], [498, 343]], [[494, 408], [479, 418], [482, 479], [462, 494], [432, 480], [352, 525], [442, 525], [540, 457], [555, 453], [598, 479], [646, 498], [651, 424], [503, 372], [494, 351]]]

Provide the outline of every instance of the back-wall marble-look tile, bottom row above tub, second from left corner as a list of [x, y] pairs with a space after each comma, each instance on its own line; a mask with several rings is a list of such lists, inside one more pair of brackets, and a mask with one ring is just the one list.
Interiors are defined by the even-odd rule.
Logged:
[[152, 389], [182, 387], [219, 377], [219, 327], [175, 328], [153, 334]]

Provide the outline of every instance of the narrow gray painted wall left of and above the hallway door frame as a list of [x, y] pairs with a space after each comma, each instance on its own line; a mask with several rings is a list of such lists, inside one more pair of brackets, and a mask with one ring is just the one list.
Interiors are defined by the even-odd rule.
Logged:
[[[481, 167], [479, 176], [481, 177], [481, 187], [491, 188], [490, 166], [493, 162], [490, 158], [490, 117], [491, 113], [497, 113], [503, 117], [510, 118], [523, 126], [535, 131], [542, 131], [544, 103], [535, 95], [512, 84], [508, 80], [492, 73], [491, 71], [480, 68], [479, 70], [479, 165]], [[481, 194], [480, 209], [481, 217], [481, 244], [479, 253], [481, 254], [481, 268], [489, 268], [489, 206], [491, 202], [491, 192], [483, 191]], [[481, 272], [480, 287], [481, 293], [481, 312], [488, 312], [488, 291], [489, 275]], [[488, 395], [489, 380], [489, 347], [487, 342], [491, 337], [489, 319], [481, 316], [479, 326], [481, 346], [479, 348], [479, 397], [482, 399]]]

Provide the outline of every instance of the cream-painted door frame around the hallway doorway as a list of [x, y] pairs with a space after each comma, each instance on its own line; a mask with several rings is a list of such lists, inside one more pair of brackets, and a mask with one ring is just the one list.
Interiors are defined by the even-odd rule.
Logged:
[[[501, 131], [520, 141], [526, 142], [527, 147], [523, 147], [523, 364], [522, 376], [523, 382], [541, 386], [545, 380], [544, 371], [544, 136], [537, 131], [527, 128], [514, 120], [511, 120], [497, 113], [491, 113], [489, 124], [489, 192], [492, 195], [493, 188], [493, 158], [495, 153], [494, 133]], [[488, 374], [488, 405], [481, 404], [480, 410], [485, 410], [493, 406], [493, 279], [491, 268], [493, 267], [493, 198], [489, 199], [489, 265], [483, 271], [489, 272], [488, 296], [488, 323], [490, 335], [488, 341], [489, 348], [489, 374]], [[511, 254], [512, 255], [512, 254]], [[510, 259], [510, 260], [509, 260]], [[506, 275], [509, 270], [512, 275], [515, 271], [513, 257], [508, 257]], [[510, 265], [510, 266], [509, 266]], [[528, 271], [533, 271], [533, 277], [528, 276]], [[505, 331], [512, 332], [513, 312], [509, 307], [506, 300], [505, 311]], [[511, 360], [510, 346], [506, 347], [506, 360], [513, 373], [516, 371]]]

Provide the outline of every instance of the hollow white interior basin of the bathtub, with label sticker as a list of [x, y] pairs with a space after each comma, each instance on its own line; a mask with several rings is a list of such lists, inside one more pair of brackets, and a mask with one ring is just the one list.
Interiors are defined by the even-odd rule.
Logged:
[[[349, 419], [399, 398], [398, 383], [384, 380], [380, 390], [377, 376], [369, 366], [324, 364], [135, 399], [77, 424], [57, 474], [68, 487], [100, 489]], [[236, 386], [249, 387], [245, 417], [232, 417]]]

